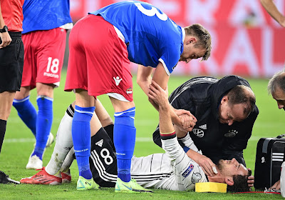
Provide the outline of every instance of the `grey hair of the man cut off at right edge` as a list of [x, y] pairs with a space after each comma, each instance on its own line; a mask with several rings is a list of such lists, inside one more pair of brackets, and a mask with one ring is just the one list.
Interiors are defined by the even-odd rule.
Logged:
[[285, 71], [278, 71], [272, 78], [269, 80], [267, 90], [270, 94], [274, 94], [276, 88], [280, 88], [285, 93]]

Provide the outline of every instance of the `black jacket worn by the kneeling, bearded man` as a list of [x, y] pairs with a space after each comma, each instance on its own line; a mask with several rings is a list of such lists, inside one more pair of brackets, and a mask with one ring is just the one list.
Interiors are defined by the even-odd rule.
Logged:
[[[239, 76], [225, 76], [220, 80], [197, 77], [175, 89], [168, 99], [175, 109], [190, 111], [197, 118], [197, 124], [189, 132], [190, 137], [202, 154], [215, 164], [219, 159], [235, 158], [245, 165], [243, 149], [247, 148], [254, 121], [259, 114], [257, 106], [247, 119], [235, 121], [232, 126], [219, 123], [217, 114], [224, 94], [237, 85], [249, 86], [249, 83]], [[161, 146], [159, 126], [153, 133], [153, 140]]]

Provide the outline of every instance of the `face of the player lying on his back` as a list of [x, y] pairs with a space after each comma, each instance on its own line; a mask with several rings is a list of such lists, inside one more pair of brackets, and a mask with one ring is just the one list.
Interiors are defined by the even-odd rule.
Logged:
[[219, 160], [217, 167], [224, 176], [246, 176], [249, 173], [249, 170], [243, 164], [239, 164], [236, 159]]

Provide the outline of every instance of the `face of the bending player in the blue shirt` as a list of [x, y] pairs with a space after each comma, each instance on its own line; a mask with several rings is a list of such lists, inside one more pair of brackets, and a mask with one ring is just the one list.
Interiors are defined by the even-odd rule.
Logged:
[[192, 59], [199, 59], [204, 56], [206, 49], [194, 47], [195, 43], [196, 39], [190, 39], [186, 44], [184, 44], [184, 49], [179, 61], [185, 61], [186, 63], [189, 63]]

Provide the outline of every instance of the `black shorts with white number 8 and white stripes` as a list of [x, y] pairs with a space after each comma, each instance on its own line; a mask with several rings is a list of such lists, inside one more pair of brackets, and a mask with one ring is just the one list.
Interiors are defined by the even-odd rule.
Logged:
[[101, 128], [91, 138], [90, 170], [94, 181], [102, 187], [114, 187], [117, 181], [117, 159], [113, 141]]

